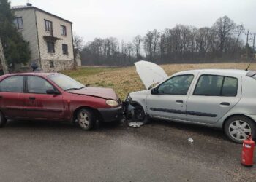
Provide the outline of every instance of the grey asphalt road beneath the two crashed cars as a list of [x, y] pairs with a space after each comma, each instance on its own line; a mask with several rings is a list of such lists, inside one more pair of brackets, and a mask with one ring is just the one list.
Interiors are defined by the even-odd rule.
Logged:
[[242, 166], [240, 154], [222, 131], [173, 122], [90, 132], [8, 122], [0, 130], [0, 181], [256, 181], [256, 167]]

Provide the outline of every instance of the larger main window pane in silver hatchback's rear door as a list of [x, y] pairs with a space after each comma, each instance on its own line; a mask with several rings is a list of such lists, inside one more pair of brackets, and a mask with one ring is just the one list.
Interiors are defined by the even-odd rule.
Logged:
[[202, 75], [195, 87], [194, 95], [219, 96], [224, 76]]

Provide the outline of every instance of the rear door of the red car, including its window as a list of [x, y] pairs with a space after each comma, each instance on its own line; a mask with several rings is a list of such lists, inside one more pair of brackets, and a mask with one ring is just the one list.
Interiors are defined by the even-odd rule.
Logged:
[[7, 118], [26, 118], [23, 85], [24, 76], [9, 76], [0, 82], [0, 107]]

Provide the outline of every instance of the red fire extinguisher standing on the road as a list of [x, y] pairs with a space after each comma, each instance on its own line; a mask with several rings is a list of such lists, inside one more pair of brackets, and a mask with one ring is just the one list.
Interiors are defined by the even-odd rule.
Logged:
[[243, 150], [241, 154], [241, 164], [245, 166], [253, 165], [253, 152], [255, 149], [255, 141], [252, 140], [252, 135], [249, 135], [243, 142]]

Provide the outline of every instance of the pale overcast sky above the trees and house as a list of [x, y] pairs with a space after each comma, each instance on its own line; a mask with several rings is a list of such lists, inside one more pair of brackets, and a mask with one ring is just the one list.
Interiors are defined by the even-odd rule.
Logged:
[[[12, 0], [12, 6], [26, 0]], [[85, 41], [117, 37], [130, 41], [147, 31], [176, 24], [211, 26], [227, 15], [256, 33], [256, 0], [29, 0], [33, 6], [72, 21]]]

